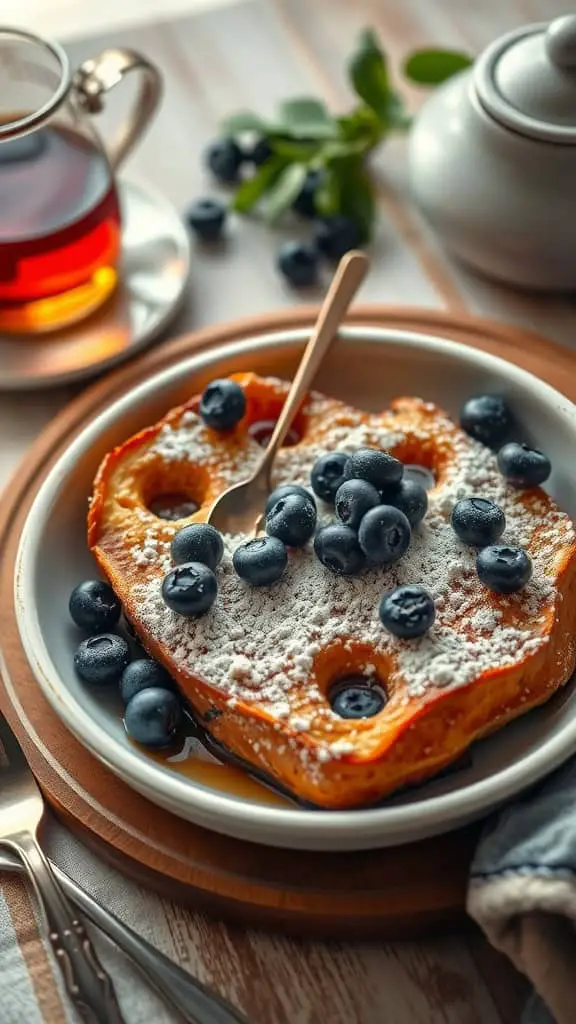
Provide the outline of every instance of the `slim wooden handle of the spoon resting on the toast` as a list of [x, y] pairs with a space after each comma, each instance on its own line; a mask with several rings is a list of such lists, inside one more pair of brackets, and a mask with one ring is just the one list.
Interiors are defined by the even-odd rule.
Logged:
[[357, 250], [346, 253], [338, 263], [286, 401], [263, 454], [258, 476], [270, 474], [277, 450], [286, 437], [301, 400], [334, 340], [344, 313], [366, 276], [367, 269], [368, 257], [365, 253]]

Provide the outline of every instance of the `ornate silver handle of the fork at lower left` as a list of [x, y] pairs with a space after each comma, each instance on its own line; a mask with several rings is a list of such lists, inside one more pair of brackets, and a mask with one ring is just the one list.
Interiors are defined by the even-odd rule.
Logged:
[[68, 993], [86, 1024], [125, 1024], [114, 986], [86, 930], [58, 885], [35, 836], [19, 833], [9, 844], [19, 854], [46, 914], [48, 937]]

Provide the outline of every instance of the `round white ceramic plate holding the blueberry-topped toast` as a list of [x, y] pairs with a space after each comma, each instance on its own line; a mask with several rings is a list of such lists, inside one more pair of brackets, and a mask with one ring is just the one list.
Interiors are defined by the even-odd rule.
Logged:
[[[246, 340], [192, 356], [152, 377], [102, 413], [74, 441], [40, 489], [23, 531], [16, 570], [18, 626], [45, 696], [71, 731], [129, 785], [156, 804], [216, 831], [282, 847], [354, 850], [447, 831], [478, 818], [541, 778], [576, 749], [576, 693], [566, 687], [542, 709], [472, 750], [469, 767], [357, 811], [308, 811], [234, 796], [152, 761], [124, 733], [117, 698], [97, 696], [73, 669], [77, 634], [68, 598], [94, 574], [85, 516], [94, 471], [107, 451], [154, 422], [215, 376], [254, 370], [289, 377], [305, 330]], [[360, 408], [398, 394], [438, 401], [457, 416], [470, 394], [504, 394], [552, 460], [549, 489], [576, 515], [576, 408], [503, 360], [453, 342], [376, 328], [349, 328], [317, 381]]]

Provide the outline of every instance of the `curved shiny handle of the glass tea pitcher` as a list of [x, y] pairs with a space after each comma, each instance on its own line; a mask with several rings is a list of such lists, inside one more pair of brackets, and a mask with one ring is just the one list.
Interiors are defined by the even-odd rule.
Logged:
[[107, 144], [113, 170], [125, 160], [152, 121], [162, 97], [162, 76], [158, 69], [134, 50], [102, 50], [80, 65], [72, 80], [77, 101], [87, 114], [104, 110], [104, 95], [130, 72], [138, 72], [140, 87], [132, 110]]

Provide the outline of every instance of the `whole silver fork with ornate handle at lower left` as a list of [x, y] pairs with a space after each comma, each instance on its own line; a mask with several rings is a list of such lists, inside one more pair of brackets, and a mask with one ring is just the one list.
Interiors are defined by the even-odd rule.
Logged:
[[[26, 770], [23, 770], [26, 768]], [[68, 993], [87, 1024], [125, 1024], [114, 986], [37, 839], [44, 801], [7, 724], [0, 748], [0, 846], [19, 858], [46, 915]]]

